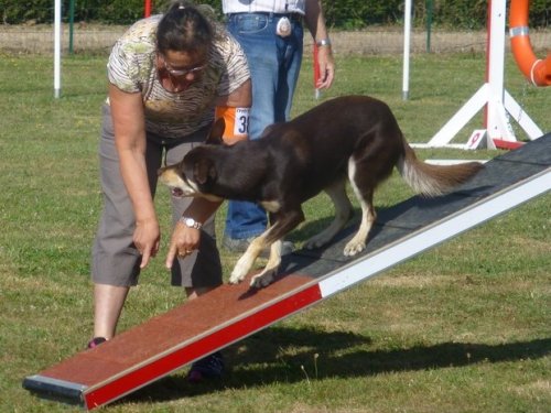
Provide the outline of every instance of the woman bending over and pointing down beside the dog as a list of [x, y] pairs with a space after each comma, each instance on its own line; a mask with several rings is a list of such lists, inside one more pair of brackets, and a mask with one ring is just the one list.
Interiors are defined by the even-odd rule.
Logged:
[[[130, 286], [159, 250], [153, 195], [162, 160], [176, 163], [201, 144], [215, 107], [251, 104], [240, 46], [199, 9], [176, 1], [164, 15], [140, 20], [109, 56], [99, 148], [104, 211], [93, 249], [94, 339], [88, 347], [115, 336]], [[219, 204], [173, 198], [172, 205], [166, 265], [172, 284], [194, 298], [222, 283], [213, 217]], [[206, 365], [219, 369], [202, 371], [196, 363], [192, 378], [195, 370], [198, 376], [222, 373], [217, 357]]]

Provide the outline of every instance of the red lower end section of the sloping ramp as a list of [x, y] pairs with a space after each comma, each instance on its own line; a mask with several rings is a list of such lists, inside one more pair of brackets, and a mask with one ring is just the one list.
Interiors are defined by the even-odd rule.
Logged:
[[[290, 275], [262, 290], [249, 290], [247, 281], [222, 285], [26, 378], [23, 387], [86, 409], [100, 406], [315, 303], [320, 290], [301, 289], [310, 281]], [[294, 293], [285, 296], [289, 291]]]

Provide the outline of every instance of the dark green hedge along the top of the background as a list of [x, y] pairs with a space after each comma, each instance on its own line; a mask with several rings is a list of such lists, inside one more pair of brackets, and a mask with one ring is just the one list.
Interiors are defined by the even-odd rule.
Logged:
[[[222, 11], [220, 0], [199, 0]], [[403, 20], [403, 0], [322, 0], [327, 24], [352, 30], [371, 25], [392, 25]], [[424, 25], [428, 19], [435, 26], [480, 29], [486, 25], [487, 0], [418, 0], [413, 1], [413, 24]], [[53, 21], [53, 0], [0, 0], [4, 24], [29, 21]], [[143, 15], [144, 0], [63, 0], [63, 20], [68, 21], [69, 7], [75, 21], [129, 24]], [[152, 0], [153, 12], [162, 12], [166, 0]], [[220, 13], [222, 14], [222, 13]], [[548, 28], [551, 20], [549, 0], [530, 2], [530, 26]]]

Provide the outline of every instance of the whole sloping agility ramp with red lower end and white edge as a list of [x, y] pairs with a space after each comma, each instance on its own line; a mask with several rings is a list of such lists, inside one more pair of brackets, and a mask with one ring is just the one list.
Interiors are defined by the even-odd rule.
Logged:
[[353, 228], [326, 249], [284, 257], [281, 276], [262, 290], [222, 285], [91, 350], [37, 374], [32, 393], [91, 410], [129, 394], [397, 263], [545, 194], [551, 188], [551, 133], [498, 156], [443, 197], [412, 197], [379, 211], [367, 250], [343, 256]]

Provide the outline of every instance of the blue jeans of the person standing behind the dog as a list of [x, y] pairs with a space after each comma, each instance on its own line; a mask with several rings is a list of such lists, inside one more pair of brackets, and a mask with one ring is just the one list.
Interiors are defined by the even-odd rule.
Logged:
[[[252, 81], [249, 139], [259, 139], [264, 128], [289, 120], [302, 63], [304, 31], [291, 19], [292, 33], [281, 37], [276, 26], [281, 14], [238, 13], [228, 17], [227, 28], [247, 55]], [[266, 211], [258, 205], [228, 203], [225, 235], [242, 239], [266, 230]]]

